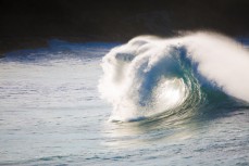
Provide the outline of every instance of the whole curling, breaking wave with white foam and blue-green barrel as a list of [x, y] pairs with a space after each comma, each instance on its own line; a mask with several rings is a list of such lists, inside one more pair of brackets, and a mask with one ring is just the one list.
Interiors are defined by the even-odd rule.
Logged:
[[101, 66], [99, 91], [113, 105], [111, 120], [188, 118], [249, 102], [249, 52], [217, 34], [136, 37]]

